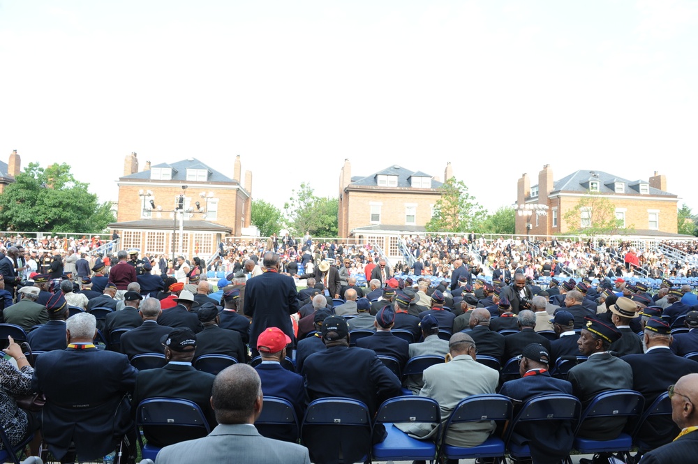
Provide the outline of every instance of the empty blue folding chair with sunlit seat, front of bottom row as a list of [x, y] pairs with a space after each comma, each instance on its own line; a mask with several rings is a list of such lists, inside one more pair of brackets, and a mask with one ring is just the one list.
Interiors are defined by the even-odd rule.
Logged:
[[394, 425], [396, 422], [439, 426], [441, 410], [435, 400], [424, 396], [400, 396], [380, 405], [373, 426], [383, 424], [387, 436], [383, 442], [373, 445], [372, 457], [378, 461], [433, 461], [436, 458], [436, 443], [410, 437]]

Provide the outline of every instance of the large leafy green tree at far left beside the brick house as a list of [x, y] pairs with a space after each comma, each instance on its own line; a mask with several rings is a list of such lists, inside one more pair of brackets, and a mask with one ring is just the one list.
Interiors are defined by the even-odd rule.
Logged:
[[29, 163], [0, 194], [0, 228], [37, 232], [103, 232], [114, 222], [109, 202], [99, 203], [66, 163]]

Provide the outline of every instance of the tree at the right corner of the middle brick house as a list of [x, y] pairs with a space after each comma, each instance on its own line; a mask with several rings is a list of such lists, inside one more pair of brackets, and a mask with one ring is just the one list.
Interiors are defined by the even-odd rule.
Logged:
[[451, 177], [439, 190], [441, 197], [426, 223], [427, 232], [468, 232], [480, 227], [487, 211], [468, 193], [463, 181]]

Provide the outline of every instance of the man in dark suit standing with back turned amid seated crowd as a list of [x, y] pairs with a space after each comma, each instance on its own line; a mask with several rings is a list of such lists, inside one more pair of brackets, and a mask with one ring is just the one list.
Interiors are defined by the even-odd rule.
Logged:
[[[267, 327], [279, 327], [294, 339], [290, 315], [298, 312], [298, 293], [293, 278], [279, 274], [279, 255], [267, 251], [263, 264], [265, 272], [246, 283], [244, 313], [252, 317], [250, 345], [257, 346], [257, 337]], [[336, 269], [334, 272], [336, 273]], [[339, 280], [339, 276], [337, 277]], [[256, 356], [257, 349], [252, 355]]]

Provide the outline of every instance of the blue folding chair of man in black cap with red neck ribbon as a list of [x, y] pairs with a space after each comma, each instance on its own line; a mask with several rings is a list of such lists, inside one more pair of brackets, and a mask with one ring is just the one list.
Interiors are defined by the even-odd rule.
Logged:
[[[579, 421], [581, 403], [572, 395], [551, 394], [532, 398], [521, 407], [514, 420], [509, 424], [504, 435], [504, 442], [510, 456], [516, 459], [530, 458], [528, 443], [512, 440], [517, 426], [526, 428], [529, 421], [570, 421], [574, 426]], [[572, 449], [562, 450], [569, 454]]]

